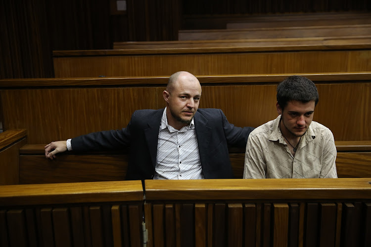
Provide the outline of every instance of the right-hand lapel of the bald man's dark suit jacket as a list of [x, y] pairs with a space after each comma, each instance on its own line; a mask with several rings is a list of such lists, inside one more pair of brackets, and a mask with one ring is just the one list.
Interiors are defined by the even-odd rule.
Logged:
[[193, 119], [196, 128], [198, 152], [201, 165], [203, 166], [207, 164], [207, 150], [210, 144], [211, 128], [208, 125], [208, 120], [199, 112], [196, 112]]

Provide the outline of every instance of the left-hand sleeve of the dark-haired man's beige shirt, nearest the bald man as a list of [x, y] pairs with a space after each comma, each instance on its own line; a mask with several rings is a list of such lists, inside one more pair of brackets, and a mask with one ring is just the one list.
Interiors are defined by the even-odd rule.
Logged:
[[243, 178], [266, 178], [267, 164], [257, 135], [249, 135], [246, 144]]

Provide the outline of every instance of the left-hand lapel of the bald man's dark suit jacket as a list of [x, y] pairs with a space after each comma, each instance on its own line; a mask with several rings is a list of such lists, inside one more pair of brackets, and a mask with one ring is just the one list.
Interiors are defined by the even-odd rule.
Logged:
[[156, 165], [158, 132], [160, 129], [161, 117], [163, 112], [164, 109], [158, 110], [155, 115], [149, 119], [148, 128], [144, 129], [145, 140], [147, 142], [153, 167], [155, 167]]

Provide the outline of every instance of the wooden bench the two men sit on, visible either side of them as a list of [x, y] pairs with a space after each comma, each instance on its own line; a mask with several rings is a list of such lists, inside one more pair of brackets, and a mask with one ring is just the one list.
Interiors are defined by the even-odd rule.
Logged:
[[[0, 185], [125, 180], [128, 150], [66, 152], [51, 161], [45, 157], [44, 144], [20, 146], [20, 140], [26, 138], [24, 130], [5, 131], [0, 140], [9, 139], [7, 132], [18, 132], [19, 140], [14, 139], [8, 147], [10, 153], [0, 149], [0, 157], [4, 158], [0, 161]], [[335, 141], [335, 145], [338, 177], [371, 177], [371, 141]], [[244, 155], [243, 148], [230, 149], [235, 178], [242, 178]]]

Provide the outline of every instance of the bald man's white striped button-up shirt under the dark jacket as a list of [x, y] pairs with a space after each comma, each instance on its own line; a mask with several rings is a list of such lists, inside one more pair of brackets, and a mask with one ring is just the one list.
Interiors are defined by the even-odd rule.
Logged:
[[180, 130], [170, 126], [166, 108], [158, 133], [153, 179], [203, 179], [196, 129], [192, 122]]

